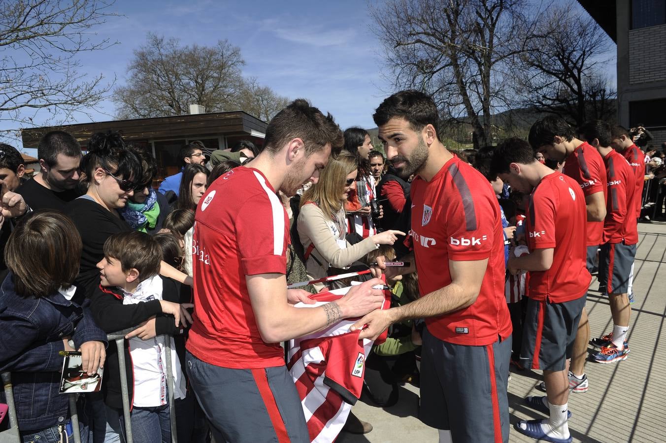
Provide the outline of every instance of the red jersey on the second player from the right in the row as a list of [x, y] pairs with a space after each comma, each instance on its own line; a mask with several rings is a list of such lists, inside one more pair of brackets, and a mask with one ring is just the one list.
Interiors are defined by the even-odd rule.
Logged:
[[[634, 208], [634, 173], [627, 160], [611, 150], [603, 162], [608, 177], [608, 198], [606, 200], [606, 220], [603, 222], [603, 243], [626, 245], [638, 243]], [[631, 209], [629, 209], [631, 208]], [[627, 217], [627, 213], [631, 214]]]

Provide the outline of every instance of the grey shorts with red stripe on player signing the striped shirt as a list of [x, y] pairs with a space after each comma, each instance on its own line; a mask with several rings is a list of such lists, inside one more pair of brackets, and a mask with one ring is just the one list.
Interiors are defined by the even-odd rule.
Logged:
[[216, 442], [310, 442], [286, 367], [228, 369], [185, 354], [196, 400]]

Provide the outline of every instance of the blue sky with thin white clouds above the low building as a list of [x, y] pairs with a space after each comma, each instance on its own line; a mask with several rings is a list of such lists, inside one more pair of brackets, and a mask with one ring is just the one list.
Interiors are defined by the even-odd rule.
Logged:
[[[117, 45], [79, 58], [80, 72], [115, 78], [116, 86], [125, 84], [133, 51], [153, 32], [183, 45], [228, 40], [240, 47], [244, 76], [290, 99], [307, 98], [331, 112], [343, 129], [376, 126], [374, 108], [392, 92], [382, 75], [382, 47], [366, 0], [117, 0], [111, 9], [119, 16], [92, 31]], [[37, 114], [35, 124], [40, 126], [47, 114]], [[69, 123], [113, 120], [114, 115], [115, 105], [105, 100]], [[11, 141], [22, 147], [20, 140]]]

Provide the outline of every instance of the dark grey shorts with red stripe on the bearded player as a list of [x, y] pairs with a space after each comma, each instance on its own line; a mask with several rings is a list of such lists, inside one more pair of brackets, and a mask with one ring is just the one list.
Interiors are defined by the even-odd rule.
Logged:
[[424, 329], [420, 420], [454, 442], [508, 442], [511, 336], [488, 346], [454, 345]]

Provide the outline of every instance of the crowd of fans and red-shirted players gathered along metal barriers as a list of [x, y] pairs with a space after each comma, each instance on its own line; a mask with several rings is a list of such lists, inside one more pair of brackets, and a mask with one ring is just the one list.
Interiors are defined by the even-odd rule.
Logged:
[[[77, 403], [85, 441], [124, 441], [122, 371], [137, 441], [169, 442], [170, 408], [181, 442], [264, 441], [270, 432], [312, 440], [284, 387], [291, 378], [274, 371], [284, 368], [276, 343], [359, 317], [360, 339], [390, 326], [361, 360], [369, 401], [391, 406], [398, 384], [411, 382], [423, 387], [421, 418], [440, 441], [507, 441], [509, 364], [542, 369], [546, 396], [525, 402], [548, 418], [515, 427], [571, 441], [568, 394], [589, 386], [590, 274], [613, 315], [592, 360], [623, 361], [637, 220], [664, 220], [664, 152], [642, 127], [571, 128], [546, 117], [528, 141], [455, 154], [441, 142], [434, 103], [416, 91], [387, 98], [374, 118], [386, 154], [366, 130], [342, 133], [296, 100], [268, 125], [263, 150], [244, 141], [208, 157], [191, 142], [159, 190], [155, 158], [118, 132], [93, 135], [85, 156], [71, 134], [49, 132], [29, 179], [19, 152], [1, 144], [0, 371], [12, 375], [23, 441], [71, 435], [59, 351], [80, 352], [89, 375], [105, 370], [102, 392]], [[402, 265], [387, 265], [396, 259]], [[286, 283], [349, 272], [366, 283], [310, 319], [289, 310], [314, 301]], [[388, 287], [392, 309], [375, 310], [377, 285]], [[106, 337], [124, 329], [120, 368]], [[239, 387], [248, 380], [256, 392]], [[241, 404], [265, 404], [266, 419]], [[345, 429], [372, 426], [350, 414]]]

